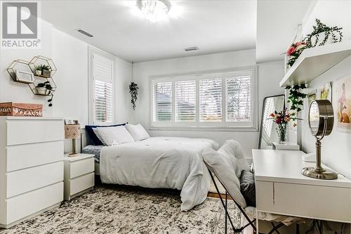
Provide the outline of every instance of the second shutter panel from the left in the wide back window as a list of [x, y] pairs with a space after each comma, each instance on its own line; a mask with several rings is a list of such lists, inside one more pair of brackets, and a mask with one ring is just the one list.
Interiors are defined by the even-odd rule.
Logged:
[[176, 122], [195, 122], [196, 82], [194, 80], [176, 82]]

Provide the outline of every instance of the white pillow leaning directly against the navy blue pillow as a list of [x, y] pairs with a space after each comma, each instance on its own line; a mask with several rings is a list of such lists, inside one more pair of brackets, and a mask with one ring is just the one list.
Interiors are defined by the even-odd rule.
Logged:
[[102, 140], [109, 146], [134, 141], [125, 126], [105, 126], [97, 127], [97, 129]]

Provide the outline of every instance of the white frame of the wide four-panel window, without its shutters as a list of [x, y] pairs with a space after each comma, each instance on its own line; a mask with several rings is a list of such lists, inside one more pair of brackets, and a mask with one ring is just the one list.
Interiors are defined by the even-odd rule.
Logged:
[[[220, 77], [223, 78], [223, 73], [239, 73], [250, 70], [253, 75], [251, 77], [251, 115], [252, 121], [248, 124], [247, 122], [233, 122], [228, 123], [225, 122], [225, 109], [223, 109], [223, 105], [225, 107], [225, 96], [222, 96], [222, 122], [201, 122], [199, 124], [199, 79], [211, 79]], [[177, 73], [177, 74], [163, 74], [163, 75], [151, 75], [149, 77], [150, 83], [150, 122], [149, 129], [150, 130], [158, 130], [158, 131], [258, 131], [258, 79], [257, 79], [257, 65], [249, 66], [249, 67], [235, 67], [228, 68], [223, 70], [205, 70], [200, 72], [187, 72], [187, 73]], [[153, 122], [153, 89], [154, 82], [174, 82], [179, 80], [188, 80], [188, 79], [196, 79], [196, 114], [197, 121], [195, 123], [175, 123], [174, 122], [174, 109], [172, 112], [172, 122], [168, 123], [158, 123]], [[172, 86], [174, 91], [175, 87]], [[225, 82], [222, 82], [222, 89], [225, 89]], [[224, 92], [223, 92], [224, 93]], [[174, 95], [173, 95], [174, 96]], [[172, 101], [173, 108], [175, 106], [174, 100]], [[175, 126], [176, 124], [176, 126]]]

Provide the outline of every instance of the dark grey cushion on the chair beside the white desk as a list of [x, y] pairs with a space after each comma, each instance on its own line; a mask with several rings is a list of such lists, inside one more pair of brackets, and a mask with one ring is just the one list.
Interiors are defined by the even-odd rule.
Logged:
[[250, 207], [256, 207], [255, 178], [251, 171], [243, 170], [241, 172], [240, 191], [246, 204]]

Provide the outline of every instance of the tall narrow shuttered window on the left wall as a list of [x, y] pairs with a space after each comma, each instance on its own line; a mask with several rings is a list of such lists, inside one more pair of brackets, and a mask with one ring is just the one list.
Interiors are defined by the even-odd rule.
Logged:
[[94, 123], [110, 124], [113, 122], [113, 61], [109, 58], [93, 55], [94, 80]]

